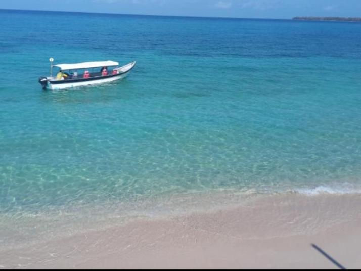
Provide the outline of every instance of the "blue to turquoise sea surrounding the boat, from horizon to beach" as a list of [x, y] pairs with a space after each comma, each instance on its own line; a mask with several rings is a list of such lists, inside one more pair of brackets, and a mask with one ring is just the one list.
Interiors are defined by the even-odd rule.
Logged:
[[[0, 212], [360, 193], [361, 24], [0, 10]], [[42, 91], [56, 63], [137, 66]]]

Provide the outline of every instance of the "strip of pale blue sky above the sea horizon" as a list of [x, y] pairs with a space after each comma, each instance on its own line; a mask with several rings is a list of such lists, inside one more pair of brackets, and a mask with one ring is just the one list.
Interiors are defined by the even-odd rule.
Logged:
[[361, 0], [0, 0], [0, 9], [291, 19], [361, 17]]

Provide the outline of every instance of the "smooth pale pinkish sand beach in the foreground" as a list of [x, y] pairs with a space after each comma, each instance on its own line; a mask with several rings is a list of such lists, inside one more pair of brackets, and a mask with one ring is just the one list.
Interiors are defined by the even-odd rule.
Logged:
[[2, 251], [2, 268], [359, 268], [361, 195], [276, 195]]

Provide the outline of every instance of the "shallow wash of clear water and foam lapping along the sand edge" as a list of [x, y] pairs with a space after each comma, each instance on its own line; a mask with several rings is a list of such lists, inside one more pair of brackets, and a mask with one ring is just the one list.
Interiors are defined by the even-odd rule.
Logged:
[[[343, 185], [298, 187], [284, 191], [263, 192], [252, 189], [193, 191], [163, 194], [156, 197], [132, 198], [128, 201], [73, 202], [49, 208], [24, 209], [0, 213], [0, 253], [2, 248], [21, 248], [53, 239], [86, 232], [123, 227], [140, 220], [166, 220], [187, 217], [193, 213], [216, 213], [239, 207], [252, 206], [262, 199], [361, 195], [359, 186]], [[45, 206], [47, 207], [47, 206]]]

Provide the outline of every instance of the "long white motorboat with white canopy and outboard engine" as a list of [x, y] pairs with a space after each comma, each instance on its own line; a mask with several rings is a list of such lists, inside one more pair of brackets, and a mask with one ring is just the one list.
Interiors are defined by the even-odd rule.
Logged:
[[[50, 76], [39, 78], [43, 89], [64, 89], [119, 80], [126, 77], [137, 63], [133, 61], [118, 67], [118, 62], [108, 60], [53, 65], [54, 59], [50, 58], [49, 60], [51, 62]], [[65, 75], [52, 76], [53, 67], [58, 67]], [[105, 68], [106, 71], [102, 72], [99, 68]]]

